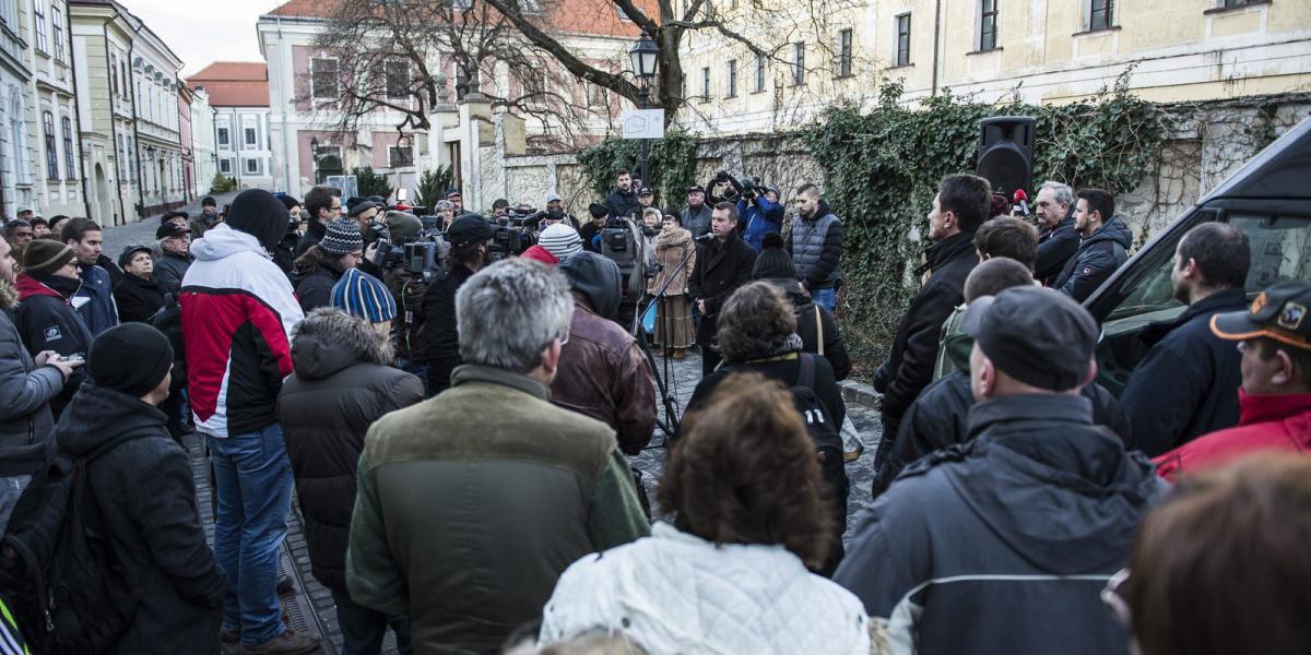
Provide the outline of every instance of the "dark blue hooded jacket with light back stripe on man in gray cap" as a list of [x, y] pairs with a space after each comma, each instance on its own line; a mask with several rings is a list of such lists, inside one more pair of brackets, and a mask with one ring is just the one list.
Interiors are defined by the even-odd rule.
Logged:
[[1100, 592], [1165, 489], [1087, 398], [985, 401], [863, 512], [834, 580], [922, 655], [1126, 652]]

